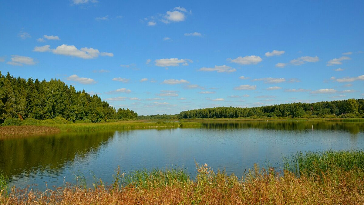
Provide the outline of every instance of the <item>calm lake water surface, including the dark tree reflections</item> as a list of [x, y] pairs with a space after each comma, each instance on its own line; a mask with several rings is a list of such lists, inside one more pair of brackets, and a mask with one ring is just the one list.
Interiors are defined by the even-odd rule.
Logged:
[[195, 177], [195, 163], [241, 177], [254, 163], [279, 167], [296, 151], [364, 148], [364, 123], [254, 121], [203, 123], [202, 128], [134, 129], [0, 139], [0, 169], [12, 185], [36, 189], [75, 183], [81, 171], [92, 185], [111, 183], [115, 169], [179, 166]]

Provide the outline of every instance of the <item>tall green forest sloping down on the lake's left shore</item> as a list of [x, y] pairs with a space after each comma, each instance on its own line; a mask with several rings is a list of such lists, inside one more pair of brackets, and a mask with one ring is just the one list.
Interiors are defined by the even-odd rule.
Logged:
[[107, 122], [112, 119], [137, 119], [138, 114], [129, 109], [117, 111], [97, 94], [91, 96], [84, 90], [60, 81], [33, 78], [25, 80], [6, 76], [0, 71], [0, 124], [9, 119], [47, 120], [63, 118], [69, 122]]

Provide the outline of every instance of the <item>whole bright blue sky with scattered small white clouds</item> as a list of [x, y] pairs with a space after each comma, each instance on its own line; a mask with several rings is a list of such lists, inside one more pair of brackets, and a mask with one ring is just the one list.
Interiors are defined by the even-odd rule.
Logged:
[[364, 97], [364, 1], [1, 1], [0, 70], [139, 115]]

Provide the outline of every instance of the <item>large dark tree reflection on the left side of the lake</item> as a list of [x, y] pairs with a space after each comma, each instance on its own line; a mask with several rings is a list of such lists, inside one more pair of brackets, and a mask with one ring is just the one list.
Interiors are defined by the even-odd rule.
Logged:
[[0, 169], [7, 175], [38, 170], [58, 172], [75, 156], [97, 152], [114, 132], [66, 133], [0, 140]]

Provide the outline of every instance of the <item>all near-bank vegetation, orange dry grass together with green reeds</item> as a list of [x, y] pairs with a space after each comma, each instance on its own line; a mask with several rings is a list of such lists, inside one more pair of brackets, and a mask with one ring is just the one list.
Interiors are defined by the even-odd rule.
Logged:
[[[333, 154], [345, 159], [346, 164], [326, 159]], [[353, 157], [347, 158], [347, 154]], [[292, 155], [297, 158], [300, 153]], [[179, 168], [138, 170], [129, 174], [115, 170], [114, 182], [105, 185], [94, 176], [92, 188], [87, 188], [82, 173], [76, 174], [77, 183], [44, 192], [9, 187], [0, 175], [0, 204], [363, 204], [364, 170], [356, 166], [363, 158], [363, 150], [324, 151], [302, 154], [319, 163], [300, 177], [289, 170], [283, 173], [273, 167], [260, 169], [258, 165], [241, 178], [225, 171], [214, 172], [211, 167], [198, 165], [197, 177], [191, 180], [186, 170]], [[301, 157], [301, 156], [300, 156]], [[301, 162], [301, 160], [297, 160]], [[348, 164], [352, 166], [346, 167]], [[343, 167], [345, 166], [345, 167]]]

